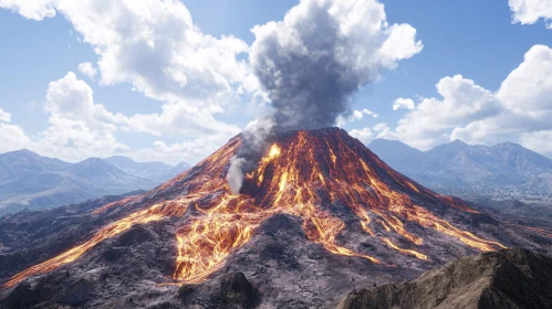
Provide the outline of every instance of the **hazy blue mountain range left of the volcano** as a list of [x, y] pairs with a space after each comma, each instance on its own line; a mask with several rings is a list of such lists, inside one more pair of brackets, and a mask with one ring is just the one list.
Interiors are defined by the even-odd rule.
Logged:
[[0, 215], [153, 189], [188, 168], [126, 157], [69, 163], [25, 149], [7, 152], [0, 154]]

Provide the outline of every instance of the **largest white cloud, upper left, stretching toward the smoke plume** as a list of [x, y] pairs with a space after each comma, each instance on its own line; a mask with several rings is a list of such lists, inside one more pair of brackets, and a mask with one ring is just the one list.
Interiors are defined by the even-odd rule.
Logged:
[[[238, 60], [249, 46], [235, 36], [204, 33], [180, 1], [0, 0], [0, 7], [34, 20], [63, 15], [80, 42], [90, 44], [98, 56], [97, 68], [90, 62], [79, 65], [82, 74], [91, 78], [97, 74], [104, 86], [129, 83], [163, 103], [160, 113], [123, 119], [124, 130], [185, 138], [236, 134], [237, 126], [213, 115], [237, 102], [267, 102], [247, 60]], [[96, 109], [103, 117], [118, 117]]]

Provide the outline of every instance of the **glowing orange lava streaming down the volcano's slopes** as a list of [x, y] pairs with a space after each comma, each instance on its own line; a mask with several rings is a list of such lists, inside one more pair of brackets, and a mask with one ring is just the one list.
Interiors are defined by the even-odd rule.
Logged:
[[[190, 171], [144, 195], [166, 196], [164, 202], [147, 205], [148, 199], [134, 196], [88, 214], [102, 215], [127, 203], [143, 203], [142, 210], [101, 228], [87, 242], [13, 276], [3, 288], [69, 264], [134, 224], [168, 217], [180, 217], [184, 222], [176, 232], [178, 257], [173, 277], [178, 283], [207, 279], [274, 214], [302, 219], [308, 238], [333, 254], [387, 265], [377, 256], [341, 244], [337, 236], [347, 226], [341, 213], [332, 211], [334, 206], [350, 210], [366, 237], [420, 260], [428, 260], [429, 256], [420, 252], [424, 238], [408, 231], [412, 226], [445, 234], [478, 251], [504, 247], [462, 231], [413, 202], [427, 201], [445, 210], [477, 213], [460, 200], [438, 195], [395, 172], [343, 130], [293, 131], [280, 136], [257, 170], [246, 175], [241, 194], [232, 195], [226, 173], [240, 145], [239, 137], [231, 139]], [[399, 247], [393, 239], [404, 239], [410, 243], [410, 248]]]

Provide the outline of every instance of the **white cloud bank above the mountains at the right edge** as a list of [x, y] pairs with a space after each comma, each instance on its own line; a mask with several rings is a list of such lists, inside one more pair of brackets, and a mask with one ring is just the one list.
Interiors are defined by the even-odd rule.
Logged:
[[441, 98], [423, 98], [390, 138], [428, 149], [462, 139], [469, 143], [503, 141], [552, 154], [552, 49], [534, 45], [497, 92], [460, 75], [437, 84]]

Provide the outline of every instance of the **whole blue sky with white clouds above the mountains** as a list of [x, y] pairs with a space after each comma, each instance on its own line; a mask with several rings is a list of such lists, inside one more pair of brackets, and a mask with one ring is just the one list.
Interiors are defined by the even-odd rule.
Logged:
[[[345, 75], [354, 87], [334, 121], [353, 137], [421, 150], [455, 139], [512, 141], [552, 158], [549, 0], [0, 0], [0, 153], [196, 163], [277, 108], [287, 88], [269, 89], [280, 76], [270, 63], [282, 68], [301, 55], [313, 68], [327, 49], [317, 46], [324, 39], [305, 39], [305, 24], [315, 24], [327, 31], [320, 38], [335, 35], [333, 60], [357, 74]], [[314, 107], [331, 105], [321, 102]]]

